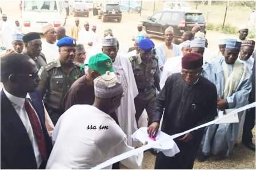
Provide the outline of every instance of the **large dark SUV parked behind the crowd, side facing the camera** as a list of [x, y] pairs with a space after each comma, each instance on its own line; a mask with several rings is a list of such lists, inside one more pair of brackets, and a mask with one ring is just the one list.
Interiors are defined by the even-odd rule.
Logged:
[[185, 31], [191, 31], [194, 26], [200, 26], [205, 31], [205, 18], [198, 10], [166, 10], [159, 11], [142, 21], [147, 34], [163, 37], [165, 29], [173, 27], [174, 43], [181, 43]]

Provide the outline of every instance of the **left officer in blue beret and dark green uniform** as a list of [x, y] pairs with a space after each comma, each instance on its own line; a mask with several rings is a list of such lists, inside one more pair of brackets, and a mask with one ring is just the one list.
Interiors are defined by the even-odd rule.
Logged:
[[75, 45], [73, 38], [64, 37], [57, 43], [59, 59], [44, 65], [38, 72], [41, 78], [43, 102], [54, 125], [64, 112], [62, 100], [75, 80], [85, 74], [81, 64], [74, 63]]

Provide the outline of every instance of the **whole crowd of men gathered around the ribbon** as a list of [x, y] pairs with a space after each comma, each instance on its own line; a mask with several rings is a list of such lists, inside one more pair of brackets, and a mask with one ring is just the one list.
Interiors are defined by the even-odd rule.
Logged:
[[[98, 36], [96, 28], [75, 19], [71, 37], [49, 23], [45, 40], [37, 32], [8, 38], [11, 47], [1, 56], [1, 168], [93, 168], [145, 145], [131, 138], [139, 127], [151, 137], [160, 125], [173, 135], [255, 101], [255, 42], [246, 39], [246, 27], [238, 39], [221, 39], [214, 55], [199, 26], [183, 32], [179, 45], [167, 27], [165, 42], [155, 47], [138, 23], [129, 49], [111, 29]], [[238, 119], [174, 139], [180, 152], [157, 152], [155, 169], [192, 169], [196, 158], [227, 157], [241, 134], [255, 151], [255, 108]], [[142, 161], [139, 152], [106, 168], [137, 169]]]

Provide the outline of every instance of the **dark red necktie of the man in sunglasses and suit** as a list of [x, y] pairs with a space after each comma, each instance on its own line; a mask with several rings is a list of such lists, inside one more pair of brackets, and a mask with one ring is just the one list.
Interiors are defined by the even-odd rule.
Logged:
[[29, 115], [29, 120], [33, 128], [35, 139], [37, 139], [37, 144], [38, 144], [40, 154], [42, 155], [43, 160], [46, 160], [47, 151], [46, 151], [45, 136], [43, 135], [41, 124], [39, 122], [39, 119], [37, 118], [37, 115], [36, 115], [37, 113], [35, 113], [34, 109], [31, 107], [29, 103], [29, 99], [27, 98], [25, 98], [25, 109], [27, 111], [27, 115]]

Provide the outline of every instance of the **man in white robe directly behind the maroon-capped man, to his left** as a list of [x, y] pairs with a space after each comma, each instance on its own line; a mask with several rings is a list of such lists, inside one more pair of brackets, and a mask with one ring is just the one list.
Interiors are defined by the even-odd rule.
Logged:
[[163, 73], [160, 79], [161, 89], [163, 88], [163, 86], [165, 86], [165, 82], [167, 78], [171, 76], [171, 74], [181, 72], [181, 59], [184, 55], [189, 53], [189, 50], [190, 50], [189, 47], [190, 47], [190, 40], [186, 40], [185, 42], [182, 43], [182, 48], [181, 48], [182, 55], [179, 55], [177, 57], [172, 57], [166, 60], [165, 65], [163, 65]]

